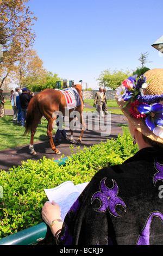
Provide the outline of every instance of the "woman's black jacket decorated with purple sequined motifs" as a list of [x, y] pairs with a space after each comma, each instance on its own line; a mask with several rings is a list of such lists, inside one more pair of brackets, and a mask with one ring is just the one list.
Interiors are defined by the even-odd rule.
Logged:
[[59, 245], [163, 245], [163, 149], [99, 170], [68, 211]]

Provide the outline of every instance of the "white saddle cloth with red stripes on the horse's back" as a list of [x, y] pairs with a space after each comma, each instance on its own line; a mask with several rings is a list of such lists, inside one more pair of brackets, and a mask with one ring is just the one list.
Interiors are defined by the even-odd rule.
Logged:
[[[55, 89], [58, 90], [58, 89]], [[68, 88], [65, 90], [60, 90], [62, 94], [64, 94], [66, 103], [67, 103], [67, 109], [75, 108], [79, 105], [81, 105], [80, 97], [78, 94], [78, 91], [75, 88]]]

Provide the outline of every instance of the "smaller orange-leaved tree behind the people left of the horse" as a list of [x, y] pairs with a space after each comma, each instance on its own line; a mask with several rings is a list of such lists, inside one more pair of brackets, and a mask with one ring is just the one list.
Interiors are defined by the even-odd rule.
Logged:
[[47, 71], [43, 69], [43, 61], [37, 56], [36, 51], [25, 47], [21, 59], [16, 62], [12, 79], [22, 89], [37, 84], [37, 81], [46, 75]]

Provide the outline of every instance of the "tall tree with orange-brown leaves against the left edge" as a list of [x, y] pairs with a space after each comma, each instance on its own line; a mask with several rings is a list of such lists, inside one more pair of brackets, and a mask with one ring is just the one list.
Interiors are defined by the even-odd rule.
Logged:
[[0, 44], [3, 45], [3, 57], [0, 58], [0, 88], [4, 80], [14, 68], [15, 62], [21, 58], [24, 47], [33, 45], [35, 34], [32, 33], [33, 13], [25, 3], [29, 0], [0, 0]]

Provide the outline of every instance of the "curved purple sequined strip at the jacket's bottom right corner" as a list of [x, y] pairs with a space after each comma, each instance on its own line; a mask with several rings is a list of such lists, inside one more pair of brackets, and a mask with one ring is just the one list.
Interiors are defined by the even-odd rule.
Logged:
[[149, 216], [146, 222], [145, 227], [143, 228], [143, 231], [139, 237], [137, 245], [149, 245], [150, 227], [151, 227], [153, 216], [160, 217], [160, 219], [163, 222], [163, 215], [160, 212], [152, 212], [152, 214]]

